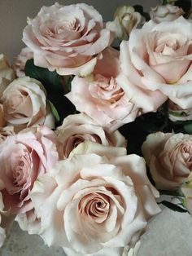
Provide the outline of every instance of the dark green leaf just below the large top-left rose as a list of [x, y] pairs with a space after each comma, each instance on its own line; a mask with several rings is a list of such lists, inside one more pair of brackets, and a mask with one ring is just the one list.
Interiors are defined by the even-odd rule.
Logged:
[[64, 93], [62, 77], [56, 71], [51, 72], [48, 68], [37, 67], [33, 59], [26, 62], [24, 73], [26, 76], [40, 81], [48, 94]]

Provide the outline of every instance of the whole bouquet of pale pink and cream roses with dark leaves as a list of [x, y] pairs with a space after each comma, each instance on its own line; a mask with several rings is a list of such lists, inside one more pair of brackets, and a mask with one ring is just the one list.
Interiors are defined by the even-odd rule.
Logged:
[[28, 18], [11, 66], [0, 55], [0, 245], [15, 219], [68, 255], [132, 255], [159, 193], [192, 214], [192, 21], [177, 3], [104, 24], [56, 2]]

